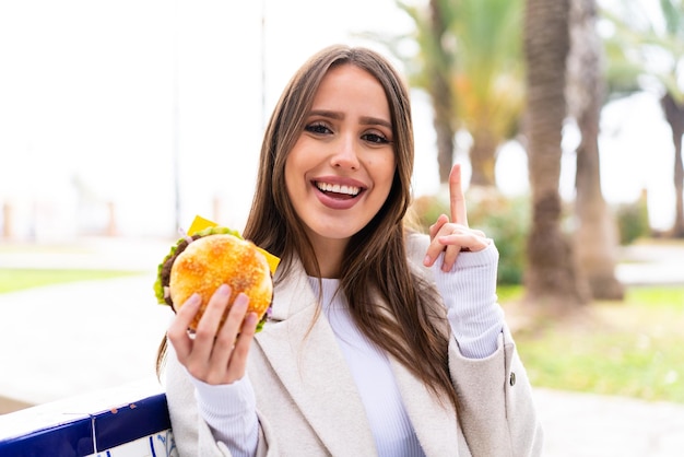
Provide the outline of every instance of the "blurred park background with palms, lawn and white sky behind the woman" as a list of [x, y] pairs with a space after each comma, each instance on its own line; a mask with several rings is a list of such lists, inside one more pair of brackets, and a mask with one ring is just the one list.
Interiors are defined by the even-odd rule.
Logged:
[[406, 78], [418, 223], [463, 164], [547, 455], [679, 455], [682, 0], [0, 1], [0, 413], [154, 375], [157, 263], [196, 214], [243, 227], [271, 109], [335, 43]]

